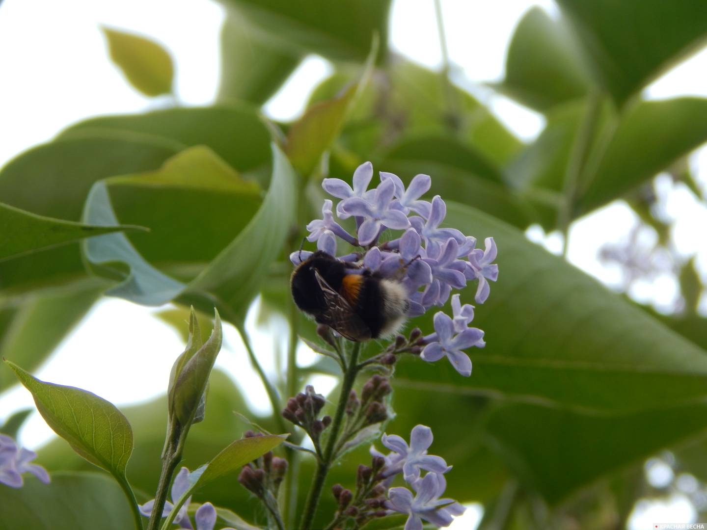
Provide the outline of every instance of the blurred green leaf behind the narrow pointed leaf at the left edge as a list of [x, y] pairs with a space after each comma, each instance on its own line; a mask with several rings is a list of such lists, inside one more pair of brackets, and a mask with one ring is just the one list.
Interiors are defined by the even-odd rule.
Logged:
[[[81, 220], [93, 184], [110, 175], [156, 170], [181, 144], [131, 131], [108, 131], [35, 147], [0, 171], [6, 204], [40, 216]], [[0, 263], [0, 289], [24, 293], [86, 279], [78, 243]]]

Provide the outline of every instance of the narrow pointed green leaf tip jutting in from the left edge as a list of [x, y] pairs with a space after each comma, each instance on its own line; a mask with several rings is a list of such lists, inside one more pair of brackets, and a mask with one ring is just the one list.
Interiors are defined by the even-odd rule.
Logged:
[[62, 219], [37, 216], [35, 213], [0, 203], [0, 261], [58, 247], [84, 237], [146, 230], [140, 226], [95, 226]]

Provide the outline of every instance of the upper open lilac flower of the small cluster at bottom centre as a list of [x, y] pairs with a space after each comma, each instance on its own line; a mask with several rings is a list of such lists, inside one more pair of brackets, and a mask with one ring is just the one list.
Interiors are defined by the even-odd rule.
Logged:
[[452, 466], [448, 466], [442, 457], [427, 454], [427, 449], [432, 444], [432, 430], [425, 425], [416, 425], [410, 432], [410, 445], [398, 435], [382, 435], [380, 442], [394, 454], [387, 458], [385, 476], [392, 476], [402, 471], [403, 478], [412, 482], [420, 476], [420, 470], [446, 473]]

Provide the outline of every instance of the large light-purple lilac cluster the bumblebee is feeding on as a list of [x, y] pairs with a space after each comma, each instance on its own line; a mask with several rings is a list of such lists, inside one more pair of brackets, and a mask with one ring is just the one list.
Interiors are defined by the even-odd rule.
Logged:
[[[431, 187], [428, 175], [416, 175], [407, 189], [392, 173], [380, 172], [378, 187], [368, 189], [373, 179], [370, 162], [358, 166], [353, 187], [341, 179], [324, 179], [327, 193], [341, 199], [337, 217], [353, 217], [356, 237], [334, 220], [333, 202], [324, 201], [322, 218], [307, 225], [307, 239], [317, 242], [317, 249], [337, 257], [337, 242], [342, 240], [366, 252], [352, 252], [338, 259], [361, 264], [363, 269], [395, 278], [409, 293], [410, 317], [423, 314], [431, 307], [442, 307], [453, 289], [462, 289], [469, 281], [478, 281], [474, 297], [482, 304], [489, 297], [489, 281], [498, 278], [496, 243], [485, 240], [485, 250], [477, 249], [476, 238], [455, 228], [441, 228], [447, 213], [445, 202], [436, 195], [431, 202], [421, 198]], [[385, 230], [404, 230], [397, 238], [382, 240]], [[312, 252], [293, 252], [293, 264], [310, 257]], [[425, 337], [422, 358], [430, 362], [446, 356], [464, 376], [471, 375], [472, 363], [465, 348], [483, 348], [484, 332], [469, 327], [474, 306], [460, 306], [459, 296], [452, 297], [453, 319], [443, 312], [434, 318], [435, 333]]]

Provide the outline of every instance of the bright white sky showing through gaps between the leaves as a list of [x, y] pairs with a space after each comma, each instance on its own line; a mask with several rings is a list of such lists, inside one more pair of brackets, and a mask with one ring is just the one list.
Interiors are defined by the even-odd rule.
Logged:
[[[539, 5], [556, 13], [556, 6], [550, 0], [443, 0], [442, 4], [455, 79], [465, 85], [503, 77], [510, 35], [530, 6]], [[4, 0], [0, 7], [0, 71], [3, 73], [0, 165], [31, 146], [48, 141], [66, 125], [86, 117], [142, 112], [168, 105], [167, 100], [145, 98], [124, 81], [118, 69], [107, 60], [100, 25], [142, 33], [161, 42], [176, 60], [175, 86], [179, 100], [184, 105], [208, 104], [218, 86], [218, 35], [222, 20], [221, 6], [209, 0]], [[392, 47], [397, 51], [426, 66], [440, 66], [433, 0], [395, 1], [390, 36]], [[266, 112], [278, 119], [296, 117], [310, 90], [330, 71], [327, 61], [309, 57], [266, 105]], [[654, 99], [707, 96], [705, 71], [707, 52], [701, 52], [653, 83], [645, 95]], [[526, 141], [537, 136], [544, 126], [542, 116], [491, 90], [478, 89], [474, 94]], [[707, 187], [707, 151], [694, 155], [693, 163], [699, 169], [701, 185]], [[672, 232], [677, 252], [684, 259], [697, 254], [703, 277], [707, 278], [704, 274], [707, 245], [701, 234], [701, 229], [707, 226], [706, 208], [684, 186], [674, 187], [668, 179], [658, 184], [661, 213], [674, 221]], [[621, 201], [580, 220], [571, 230], [570, 261], [607, 285], [618, 288], [621, 285], [619, 271], [602, 265], [597, 259], [597, 249], [606, 242], [624, 240], [635, 223], [636, 216]], [[527, 235], [551, 252], [558, 253], [561, 249], [561, 237], [557, 234], [545, 235], [536, 226], [530, 228]], [[650, 239], [650, 234], [647, 237]], [[663, 274], [652, 282], [637, 285], [631, 294], [644, 302], [652, 302], [659, 309], [670, 310], [678, 296], [677, 283], [670, 274]], [[703, 305], [707, 306], [707, 302]], [[38, 377], [95, 391], [119, 406], [160, 394], [165, 388], [170, 365], [182, 350], [182, 343], [173, 330], [151, 317], [153, 311], [122, 300], [103, 300], [39, 370]], [[273, 351], [267, 330], [255, 331], [252, 322], [250, 328], [257, 335], [257, 349]], [[127, 329], [132, 330], [132, 334], [126, 334]], [[95, 356], [95, 344], [101, 345], [100, 358]], [[312, 361], [312, 354], [306, 348], [300, 355], [303, 362]], [[111, 370], [103, 379], [101, 359], [117, 357], [123, 359], [125, 366], [139, 365], [140, 370], [122, 375]], [[274, 375], [276, 370], [271, 358], [266, 356], [262, 362]], [[233, 329], [226, 330], [226, 348], [218, 364], [230, 373], [247, 374], [241, 381], [256, 380]], [[76, 370], [78, 365], [85, 366], [86, 370]], [[164, 377], [154, 377], [156, 373], [163, 373]], [[317, 390], [325, 390], [331, 384], [323, 379], [317, 381]], [[262, 411], [269, 410], [259, 384], [250, 384], [247, 391], [255, 406]], [[25, 406], [32, 406], [28, 392], [13, 389], [1, 394], [0, 421]], [[50, 433], [35, 414], [21, 432], [21, 442], [37, 447]], [[677, 507], [680, 502], [682, 497], [669, 503], [670, 517], [661, 515], [662, 519], [689, 522], [694, 514]], [[478, 507], [473, 507], [469, 518], [455, 523], [455, 527], [472, 528], [478, 517]], [[632, 522], [631, 526], [638, 528], [636, 524]]]

